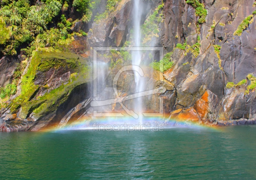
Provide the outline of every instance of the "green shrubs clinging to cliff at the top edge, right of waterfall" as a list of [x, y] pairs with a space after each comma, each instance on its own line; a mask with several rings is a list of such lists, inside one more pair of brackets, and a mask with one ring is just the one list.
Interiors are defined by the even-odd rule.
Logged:
[[187, 0], [186, 3], [196, 9], [196, 16], [199, 16], [198, 23], [203, 24], [207, 16], [207, 10], [204, 8], [204, 4], [200, 3], [199, 0]]

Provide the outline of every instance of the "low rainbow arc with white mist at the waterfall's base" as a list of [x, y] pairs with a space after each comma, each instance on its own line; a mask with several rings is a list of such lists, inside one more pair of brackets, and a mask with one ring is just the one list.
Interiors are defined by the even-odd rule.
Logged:
[[[125, 126], [126, 125], [126, 126]], [[137, 125], [137, 127], [136, 127]], [[164, 117], [147, 117], [143, 118], [143, 125], [138, 123], [133, 117], [90, 117], [79, 119], [72, 124], [65, 125], [61, 128], [48, 127], [43, 131], [68, 131], [68, 130], [96, 130], [109, 128], [133, 128], [135, 129], [172, 129], [172, 128], [193, 128], [193, 129], [213, 129], [220, 130], [219, 126], [207, 126], [199, 124], [196, 121], [187, 121], [185, 119], [170, 119], [170, 116]]]

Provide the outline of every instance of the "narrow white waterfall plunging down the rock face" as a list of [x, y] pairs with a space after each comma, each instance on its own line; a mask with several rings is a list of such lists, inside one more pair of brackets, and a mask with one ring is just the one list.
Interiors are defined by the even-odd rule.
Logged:
[[[140, 8], [140, 0], [133, 0], [134, 8], [133, 8], [133, 29], [134, 29], [134, 47], [136, 47], [136, 51], [132, 51], [132, 65], [140, 66], [141, 64], [141, 51], [140, 51], [140, 41], [141, 41], [141, 31], [140, 31], [140, 21], [142, 16], [142, 8]], [[144, 90], [144, 82], [141, 78], [140, 74], [134, 71], [134, 80], [136, 83], [135, 92], [142, 92]], [[142, 124], [142, 106], [143, 101], [142, 98], [137, 98], [134, 100], [134, 110], [136, 109], [139, 115], [139, 122]]]

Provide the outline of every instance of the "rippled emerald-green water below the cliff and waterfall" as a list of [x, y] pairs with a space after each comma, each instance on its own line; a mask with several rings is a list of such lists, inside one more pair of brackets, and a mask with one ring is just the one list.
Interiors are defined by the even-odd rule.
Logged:
[[255, 132], [0, 132], [0, 178], [255, 179]]

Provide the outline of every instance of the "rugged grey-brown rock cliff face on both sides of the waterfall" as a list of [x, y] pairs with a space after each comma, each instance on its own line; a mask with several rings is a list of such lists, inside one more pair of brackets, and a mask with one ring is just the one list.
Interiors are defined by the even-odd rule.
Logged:
[[[161, 85], [167, 89], [156, 97], [156, 99], [159, 96], [163, 97], [166, 116], [170, 119], [184, 119], [207, 125], [254, 124], [256, 118], [255, 0], [225, 2], [166, 0], [163, 6], [161, 1], [143, 1], [143, 3], [145, 13], [142, 15], [141, 25], [146, 32], [143, 34], [143, 45], [163, 47], [164, 54], [168, 53], [169, 61], [173, 62], [171, 68], [163, 71], [164, 80], [148, 77], [150, 86]], [[201, 9], [207, 11], [205, 17], [204, 11], [199, 12], [197, 9], [199, 5]], [[73, 49], [73, 52], [80, 54], [79, 59], [92, 58], [90, 49], [92, 47], [129, 46], [132, 41], [132, 6], [131, 0], [122, 0], [115, 6], [114, 11], [110, 11], [102, 19], [91, 21], [89, 24], [78, 21], [72, 30], [77, 32], [80, 29], [84, 31], [87, 29], [88, 31], [86, 38], [88, 51], [81, 53]], [[156, 17], [152, 17], [156, 11]], [[153, 29], [147, 29], [147, 22], [150, 20], [155, 24]], [[76, 43], [78, 46], [82, 44], [81, 40], [73, 42], [73, 44]], [[153, 57], [156, 56], [157, 54], [153, 54]], [[149, 57], [148, 53], [143, 55], [144, 59]], [[104, 62], [112, 64], [108, 72], [109, 78], [125, 65], [126, 61], [129, 61], [129, 57], [117, 52], [108, 52], [108, 56], [101, 56], [101, 58]], [[41, 59], [44, 60], [42, 57]], [[4, 68], [6, 71], [4, 74], [13, 73], [14, 70], [10, 64], [3, 64], [0, 67], [7, 66], [9, 68]], [[32, 85], [37, 88], [28, 98], [29, 103], [23, 100], [16, 105], [14, 112], [11, 108], [14, 101], [11, 101], [8, 108], [2, 109], [1, 130], [37, 130], [46, 125], [62, 126], [75, 121], [82, 115], [90, 116], [92, 112], [88, 105], [90, 95], [83, 96], [80, 101], [73, 103], [69, 103], [67, 99], [58, 103], [71, 104], [58, 118], [56, 109], [61, 108], [53, 108], [51, 112], [38, 112], [41, 110], [38, 107], [43, 108], [41, 104], [47, 104], [48, 101], [41, 102], [36, 100], [36, 97], [44, 96], [46, 91], [58, 89], [59, 85], [70, 83], [70, 76], [76, 73], [74, 71], [76, 67], [73, 67], [73, 70], [67, 67], [68, 64], [61, 64], [58, 68], [46, 68], [43, 71], [37, 69]], [[118, 88], [127, 89], [125, 80], [132, 76], [132, 73], [127, 73], [123, 77], [124, 81], [119, 82]], [[10, 78], [5, 78], [3, 82], [1, 81], [1, 85], [9, 80]], [[78, 84], [84, 83], [85, 81]], [[129, 87], [133, 86], [129, 85]], [[45, 86], [49, 86], [50, 90]], [[69, 91], [76, 86], [70, 86]], [[75, 90], [73, 92], [75, 93]], [[69, 99], [71, 95], [67, 94]], [[30, 100], [34, 102], [30, 104]], [[55, 100], [49, 100], [49, 103], [53, 101], [55, 102]], [[152, 103], [148, 103], [148, 106], [150, 105], [152, 106]], [[26, 108], [25, 111], [22, 110], [24, 108]], [[35, 112], [39, 115], [33, 117]]]

